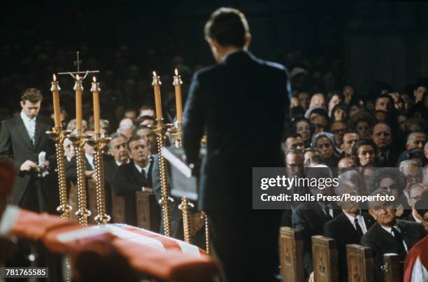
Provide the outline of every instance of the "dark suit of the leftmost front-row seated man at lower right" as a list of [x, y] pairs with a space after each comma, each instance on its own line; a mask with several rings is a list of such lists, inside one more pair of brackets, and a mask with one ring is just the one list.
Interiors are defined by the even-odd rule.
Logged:
[[[335, 206], [334, 217], [341, 213], [341, 209]], [[298, 204], [292, 212], [293, 227], [302, 232], [304, 242], [304, 267], [306, 276], [313, 272], [312, 262], [312, 237], [322, 235], [327, 217], [318, 202], [304, 202]]]

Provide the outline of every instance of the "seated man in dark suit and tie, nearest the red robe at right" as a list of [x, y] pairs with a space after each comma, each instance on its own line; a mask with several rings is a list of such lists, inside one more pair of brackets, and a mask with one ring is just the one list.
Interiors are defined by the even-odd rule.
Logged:
[[[375, 190], [371, 196], [392, 197], [385, 190]], [[385, 198], [384, 197], [384, 198]], [[395, 202], [387, 199], [373, 199], [369, 202], [369, 213], [376, 219], [375, 223], [361, 239], [361, 244], [373, 249], [375, 255], [376, 281], [383, 281], [383, 255], [397, 253], [399, 260], [404, 261], [408, 250], [425, 237], [425, 230], [419, 223], [397, 220]]]

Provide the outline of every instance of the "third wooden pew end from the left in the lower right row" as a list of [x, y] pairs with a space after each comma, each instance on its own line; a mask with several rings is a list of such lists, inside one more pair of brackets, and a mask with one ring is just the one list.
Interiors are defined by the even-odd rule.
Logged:
[[371, 248], [357, 244], [346, 246], [349, 282], [374, 282], [374, 257]]

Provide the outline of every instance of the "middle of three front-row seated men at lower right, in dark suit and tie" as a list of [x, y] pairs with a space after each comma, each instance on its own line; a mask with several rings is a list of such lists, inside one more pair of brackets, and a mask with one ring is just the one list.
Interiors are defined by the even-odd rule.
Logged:
[[[341, 180], [334, 188], [336, 195], [358, 195], [355, 186], [349, 181]], [[363, 213], [359, 203], [350, 200], [340, 202], [342, 213], [324, 225], [324, 236], [336, 240], [338, 251], [339, 281], [348, 281], [346, 245], [359, 244], [363, 234], [375, 223], [369, 213]]]

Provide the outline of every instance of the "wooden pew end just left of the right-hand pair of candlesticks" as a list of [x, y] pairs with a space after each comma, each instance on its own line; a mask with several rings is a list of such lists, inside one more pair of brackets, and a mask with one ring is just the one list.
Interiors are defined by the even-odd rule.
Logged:
[[137, 226], [159, 233], [161, 209], [151, 192], [136, 192]]

